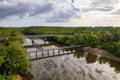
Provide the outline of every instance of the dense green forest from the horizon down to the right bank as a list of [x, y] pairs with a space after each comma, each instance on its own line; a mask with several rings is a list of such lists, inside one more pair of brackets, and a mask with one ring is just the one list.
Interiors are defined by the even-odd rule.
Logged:
[[59, 43], [87, 44], [106, 49], [120, 57], [119, 27], [27, 27], [21, 31], [26, 35], [57, 34], [55, 40]]

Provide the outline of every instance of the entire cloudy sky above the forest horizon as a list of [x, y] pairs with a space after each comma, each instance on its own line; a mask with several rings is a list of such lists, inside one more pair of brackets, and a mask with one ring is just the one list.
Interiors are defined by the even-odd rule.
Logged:
[[0, 0], [0, 26], [120, 26], [120, 0]]

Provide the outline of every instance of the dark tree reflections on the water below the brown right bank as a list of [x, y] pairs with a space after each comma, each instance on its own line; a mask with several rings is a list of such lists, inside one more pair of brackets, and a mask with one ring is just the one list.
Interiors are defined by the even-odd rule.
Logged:
[[76, 58], [84, 57], [88, 64], [95, 63], [95, 62], [99, 62], [100, 64], [107, 63], [110, 65], [110, 67], [113, 67], [115, 69], [116, 73], [120, 73], [120, 62], [113, 61], [108, 58], [101, 57], [100, 55], [95, 55], [95, 54], [91, 54], [91, 53], [83, 52], [83, 51], [78, 51], [74, 53], [73, 55]]

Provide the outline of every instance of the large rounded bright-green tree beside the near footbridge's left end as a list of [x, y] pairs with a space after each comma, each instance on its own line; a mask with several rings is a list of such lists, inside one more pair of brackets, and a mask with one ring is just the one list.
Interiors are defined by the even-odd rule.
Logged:
[[26, 74], [27, 68], [30, 66], [30, 62], [28, 59], [28, 53], [24, 50], [21, 44], [17, 41], [11, 42], [8, 46], [9, 48], [9, 57], [12, 62], [10, 62], [10, 70], [13, 70], [20, 73]]

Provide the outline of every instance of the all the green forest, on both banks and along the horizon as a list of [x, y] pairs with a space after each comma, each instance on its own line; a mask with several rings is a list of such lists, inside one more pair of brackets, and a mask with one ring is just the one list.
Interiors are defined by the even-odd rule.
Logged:
[[[31, 63], [22, 47], [24, 35], [55, 35], [64, 45], [83, 45], [105, 49], [120, 57], [120, 27], [47, 27], [0, 28], [0, 80], [27, 74]], [[9, 79], [10, 80], [10, 79]]]

